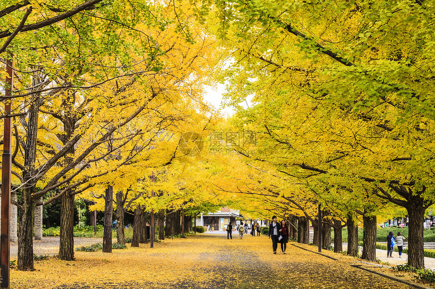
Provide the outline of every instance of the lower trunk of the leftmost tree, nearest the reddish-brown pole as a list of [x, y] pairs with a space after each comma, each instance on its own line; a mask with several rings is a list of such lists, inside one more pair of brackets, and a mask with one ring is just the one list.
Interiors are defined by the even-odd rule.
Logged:
[[33, 270], [33, 214], [35, 200], [31, 197], [32, 187], [23, 189], [18, 228], [18, 270]]

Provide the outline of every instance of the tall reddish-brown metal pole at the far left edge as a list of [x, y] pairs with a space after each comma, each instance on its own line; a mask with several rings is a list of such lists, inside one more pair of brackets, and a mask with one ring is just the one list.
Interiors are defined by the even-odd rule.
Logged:
[[[12, 55], [11, 55], [12, 56]], [[14, 62], [12, 60], [6, 61], [6, 87], [5, 96], [11, 96], [14, 74], [13, 67]], [[5, 99], [5, 114], [11, 112], [11, 98]], [[0, 286], [2, 288], [9, 288], [9, 265], [10, 265], [10, 228], [9, 220], [11, 219], [11, 166], [12, 166], [12, 154], [11, 154], [11, 131], [12, 122], [11, 118], [5, 118], [5, 131], [3, 137], [3, 158], [2, 158], [2, 225], [0, 228]]]

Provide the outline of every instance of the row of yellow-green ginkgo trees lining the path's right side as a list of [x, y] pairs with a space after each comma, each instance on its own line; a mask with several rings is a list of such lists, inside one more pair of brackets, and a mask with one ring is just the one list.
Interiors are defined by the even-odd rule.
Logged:
[[[408, 264], [424, 267], [423, 219], [435, 202], [433, 7], [203, 4], [198, 15], [219, 21], [216, 35], [227, 49], [221, 80], [227, 103], [238, 108], [230, 128], [256, 136], [251, 150], [233, 143], [247, 177], [223, 190], [266, 199], [269, 209], [314, 224], [320, 205], [329, 216], [323, 224], [337, 230], [347, 224], [353, 231], [360, 215], [370, 260], [376, 216], [406, 214]], [[246, 100], [248, 108], [240, 104]]]

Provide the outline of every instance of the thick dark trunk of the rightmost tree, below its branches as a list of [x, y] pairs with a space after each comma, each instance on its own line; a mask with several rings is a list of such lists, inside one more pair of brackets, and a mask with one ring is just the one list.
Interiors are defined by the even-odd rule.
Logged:
[[[411, 200], [412, 201], [412, 200]], [[422, 203], [422, 202], [421, 202]], [[416, 202], [406, 208], [409, 217], [408, 232], [408, 265], [424, 268], [423, 221], [425, 209]]]

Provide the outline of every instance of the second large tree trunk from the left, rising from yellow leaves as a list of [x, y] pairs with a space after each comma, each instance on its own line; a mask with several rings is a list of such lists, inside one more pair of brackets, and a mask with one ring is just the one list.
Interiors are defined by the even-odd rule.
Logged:
[[74, 195], [68, 190], [62, 196], [60, 211], [59, 259], [74, 260]]

